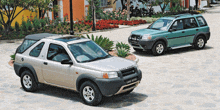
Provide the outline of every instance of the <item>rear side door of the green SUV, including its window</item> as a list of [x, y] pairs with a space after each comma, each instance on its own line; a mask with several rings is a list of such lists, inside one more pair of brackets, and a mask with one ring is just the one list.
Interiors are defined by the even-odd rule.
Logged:
[[195, 18], [184, 19], [184, 29], [186, 31], [186, 44], [193, 43], [194, 36], [199, 32], [199, 27]]

